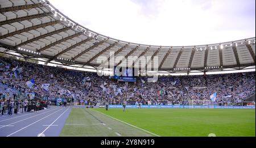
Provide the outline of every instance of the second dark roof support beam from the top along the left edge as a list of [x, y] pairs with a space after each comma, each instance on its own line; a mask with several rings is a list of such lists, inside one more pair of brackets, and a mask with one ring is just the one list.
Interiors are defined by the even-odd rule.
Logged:
[[15, 22], [22, 22], [23, 20], [31, 20], [31, 19], [35, 19], [35, 18], [43, 18], [45, 16], [51, 15], [52, 13], [42, 13], [42, 14], [36, 14], [36, 15], [29, 15], [29, 16], [23, 16], [20, 18], [15, 18], [15, 19], [9, 19], [9, 20], [5, 20], [3, 22], [0, 22], [0, 26], [4, 25], [4, 24], [11, 24], [11, 23], [15, 23]]

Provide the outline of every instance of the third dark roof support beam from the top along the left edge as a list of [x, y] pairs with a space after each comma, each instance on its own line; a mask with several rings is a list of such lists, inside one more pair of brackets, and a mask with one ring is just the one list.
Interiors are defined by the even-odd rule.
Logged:
[[22, 32], [27, 32], [27, 31], [31, 31], [31, 30], [34, 30], [34, 29], [55, 25], [59, 22], [60, 22], [60, 20], [56, 20], [56, 21], [53, 21], [53, 22], [43, 23], [43, 24], [39, 24], [39, 25], [36, 25], [36, 26], [20, 29], [18, 31], [14, 31], [14, 32], [11, 32], [11, 33], [7, 33], [6, 35], [0, 36], [0, 40], [5, 39], [6, 37], [14, 36], [16, 34], [20, 34]]

